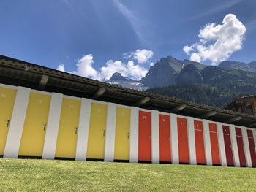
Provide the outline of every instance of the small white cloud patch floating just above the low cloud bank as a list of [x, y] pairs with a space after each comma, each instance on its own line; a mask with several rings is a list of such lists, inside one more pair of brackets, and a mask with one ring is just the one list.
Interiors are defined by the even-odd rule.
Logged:
[[152, 50], [135, 50], [135, 52], [124, 53], [124, 58], [132, 58], [138, 61], [139, 64], [144, 64], [148, 62], [154, 55]]

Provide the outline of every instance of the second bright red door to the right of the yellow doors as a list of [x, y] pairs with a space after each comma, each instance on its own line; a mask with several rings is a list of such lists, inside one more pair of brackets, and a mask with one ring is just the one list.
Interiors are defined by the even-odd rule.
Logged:
[[171, 162], [170, 155], [170, 116], [159, 114], [160, 162]]

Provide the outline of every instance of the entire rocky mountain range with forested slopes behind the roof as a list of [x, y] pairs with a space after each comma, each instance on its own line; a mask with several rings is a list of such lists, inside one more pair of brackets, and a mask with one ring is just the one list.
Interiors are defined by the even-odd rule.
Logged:
[[256, 61], [206, 66], [167, 56], [151, 66], [140, 81], [115, 73], [107, 82], [222, 107], [241, 93], [256, 93]]

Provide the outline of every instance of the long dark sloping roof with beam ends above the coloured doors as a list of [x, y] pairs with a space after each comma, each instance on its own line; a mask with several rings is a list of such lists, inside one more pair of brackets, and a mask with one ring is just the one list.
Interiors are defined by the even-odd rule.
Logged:
[[197, 104], [174, 97], [160, 96], [146, 91], [122, 88], [4, 55], [0, 55], [0, 82], [256, 128], [256, 117], [252, 115]]

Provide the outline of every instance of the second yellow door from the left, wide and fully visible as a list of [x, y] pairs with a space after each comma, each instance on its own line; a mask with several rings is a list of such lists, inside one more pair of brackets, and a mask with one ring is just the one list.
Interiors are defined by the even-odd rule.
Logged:
[[49, 95], [30, 93], [18, 155], [42, 156], [49, 108]]

